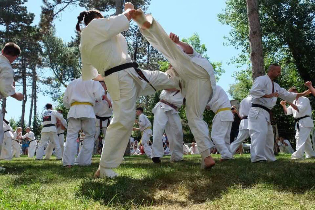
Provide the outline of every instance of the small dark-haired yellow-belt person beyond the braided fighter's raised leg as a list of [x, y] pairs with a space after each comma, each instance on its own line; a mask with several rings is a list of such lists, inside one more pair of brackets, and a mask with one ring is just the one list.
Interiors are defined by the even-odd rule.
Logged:
[[151, 158], [152, 149], [149, 146], [149, 141], [152, 136], [151, 122], [149, 121], [148, 117], [143, 114], [142, 107], [138, 107], [136, 109], [136, 115], [139, 116], [139, 120], [135, 119], [135, 123], [137, 123], [140, 128], [133, 128], [132, 130], [141, 132], [140, 143], [143, 145], [146, 156]]

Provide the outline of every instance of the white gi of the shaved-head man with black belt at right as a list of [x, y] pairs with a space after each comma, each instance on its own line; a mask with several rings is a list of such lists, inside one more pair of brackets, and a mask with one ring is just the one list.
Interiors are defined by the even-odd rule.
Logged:
[[[276, 82], [273, 82], [274, 92], [279, 94], [281, 99], [293, 101], [296, 93], [289, 93], [281, 88]], [[257, 77], [249, 94], [252, 96], [252, 103], [265, 106], [272, 109], [276, 105], [277, 98], [262, 98], [266, 94], [272, 94], [272, 81], [268, 75]], [[268, 111], [251, 107], [248, 115], [248, 127], [251, 138], [250, 159], [257, 161], [275, 161], [276, 157], [273, 151], [274, 135]]]

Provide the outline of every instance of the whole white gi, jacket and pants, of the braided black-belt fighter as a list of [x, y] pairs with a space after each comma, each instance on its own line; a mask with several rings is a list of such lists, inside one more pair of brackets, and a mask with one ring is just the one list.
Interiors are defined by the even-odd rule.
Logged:
[[[79, 49], [84, 80], [94, 79], [98, 73], [104, 76], [108, 69], [131, 62], [127, 41], [120, 34], [128, 29], [128, 19], [120, 14], [94, 19], [82, 30]], [[179, 88], [177, 77], [171, 77], [161, 71], [142, 72], [157, 90]], [[106, 130], [106, 144], [103, 145], [100, 158], [101, 177], [104, 175], [103, 169], [118, 167], [123, 160], [135, 121], [135, 103], [138, 96], [155, 92], [139, 77], [134, 68], [112, 73], [104, 78], [104, 82], [113, 100], [114, 117]]]

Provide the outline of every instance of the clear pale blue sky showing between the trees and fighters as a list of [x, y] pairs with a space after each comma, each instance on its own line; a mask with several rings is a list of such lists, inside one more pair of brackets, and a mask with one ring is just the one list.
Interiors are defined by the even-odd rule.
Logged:
[[[34, 13], [34, 24], [38, 24], [41, 12], [41, 0], [28, 0], [26, 3], [29, 12]], [[182, 37], [190, 37], [197, 32], [201, 42], [208, 49], [207, 54], [211, 61], [221, 61], [222, 67], [225, 69], [218, 85], [224, 90], [228, 90], [229, 85], [234, 83], [232, 73], [238, 69], [235, 65], [228, 62], [240, 53], [232, 46], [224, 46], [226, 42], [224, 36], [228, 36], [231, 31], [230, 26], [222, 25], [217, 19], [217, 14], [221, 13], [225, 8], [225, 1], [209, 1], [209, 0], [152, 0], [148, 12], [151, 12], [155, 19], [159, 21], [166, 32], [173, 32]], [[84, 8], [72, 7], [63, 12], [60, 19], [54, 21], [56, 27], [56, 35], [61, 37], [65, 42], [71, 41], [74, 36], [75, 25], [77, 23], [77, 15]], [[49, 74], [49, 72], [45, 72]], [[17, 88], [17, 91], [22, 91]], [[30, 91], [28, 91], [30, 92]], [[38, 94], [37, 110], [39, 113], [43, 111], [46, 103], [52, 102], [49, 96]], [[8, 98], [6, 119], [13, 117], [18, 119], [21, 116], [22, 102]], [[30, 110], [30, 99], [26, 103], [26, 116], [28, 120]]]

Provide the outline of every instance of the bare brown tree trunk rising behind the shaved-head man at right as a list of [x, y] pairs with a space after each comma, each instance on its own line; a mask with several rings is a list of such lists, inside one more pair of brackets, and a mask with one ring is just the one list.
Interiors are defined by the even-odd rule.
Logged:
[[257, 0], [246, 0], [249, 22], [250, 60], [253, 66], [252, 78], [265, 75], [264, 56], [262, 52], [261, 28]]

